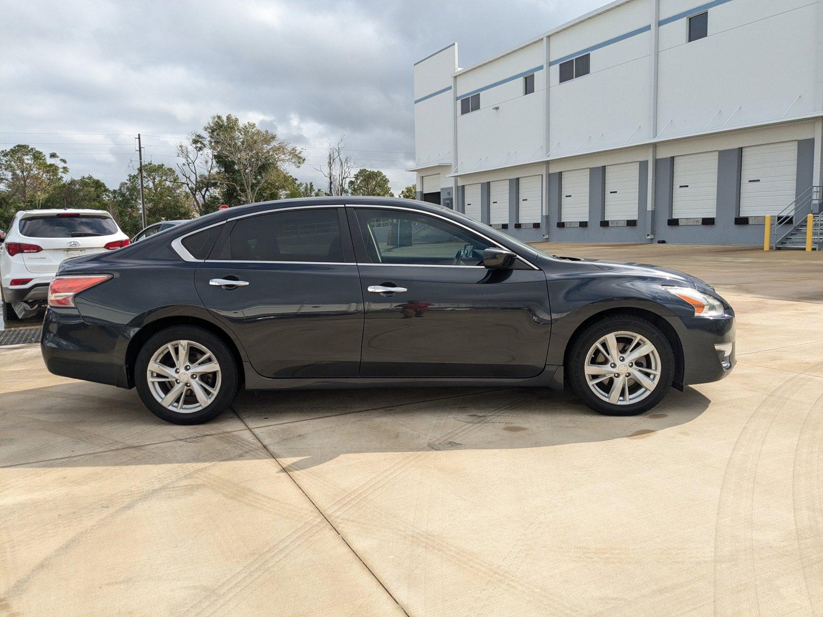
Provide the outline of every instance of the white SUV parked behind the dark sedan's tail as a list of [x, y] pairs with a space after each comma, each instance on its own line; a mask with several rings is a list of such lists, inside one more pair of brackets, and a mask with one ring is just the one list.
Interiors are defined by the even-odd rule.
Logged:
[[128, 236], [105, 210], [17, 212], [0, 244], [2, 317], [30, 317], [44, 306], [63, 259], [127, 244]]

